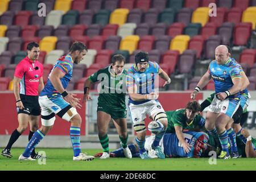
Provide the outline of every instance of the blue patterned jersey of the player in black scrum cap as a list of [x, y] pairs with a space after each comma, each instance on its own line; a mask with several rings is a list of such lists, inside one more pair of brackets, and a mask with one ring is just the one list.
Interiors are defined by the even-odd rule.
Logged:
[[[155, 79], [159, 72], [159, 65], [155, 62], [148, 61], [147, 68], [144, 72], [140, 72], [137, 69], [137, 66], [134, 64], [128, 70], [128, 80], [127, 87], [137, 85], [137, 93], [138, 94], [149, 94], [154, 92], [155, 89]], [[146, 101], [133, 101], [129, 97], [129, 102], [135, 105], [143, 104]], [[157, 101], [157, 100], [156, 100]]]

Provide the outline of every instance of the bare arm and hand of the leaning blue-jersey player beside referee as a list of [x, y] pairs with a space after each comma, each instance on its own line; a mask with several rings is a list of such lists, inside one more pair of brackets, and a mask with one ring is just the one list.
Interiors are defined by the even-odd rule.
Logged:
[[[52, 74], [49, 78], [54, 88], [59, 93], [65, 92], [65, 89], [63, 88], [63, 85], [61, 84], [60, 78], [64, 77], [65, 74], [60, 71], [60, 69], [53, 69]], [[81, 109], [81, 105], [79, 104], [80, 98], [75, 98], [73, 96], [76, 96], [76, 94], [68, 93], [67, 96], [64, 97], [65, 101], [67, 101], [69, 104], [71, 104], [73, 107], [78, 107]]]

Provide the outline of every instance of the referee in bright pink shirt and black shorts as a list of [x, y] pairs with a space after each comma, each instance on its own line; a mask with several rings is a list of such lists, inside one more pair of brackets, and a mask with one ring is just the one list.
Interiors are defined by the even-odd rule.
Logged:
[[[44, 88], [42, 77], [43, 65], [38, 61], [39, 52], [38, 43], [29, 43], [27, 45], [27, 56], [15, 68], [13, 81], [19, 127], [13, 131], [7, 146], [1, 153], [7, 158], [13, 157], [11, 155], [11, 146], [13, 146], [19, 136], [27, 129], [28, 123], [30, 123], [28, 140], [38, 130], [39, 115], [41, 113], [38, 94]], [[36, 154], [34, 150], [31, 158], [39, 159], [40, 155]]]

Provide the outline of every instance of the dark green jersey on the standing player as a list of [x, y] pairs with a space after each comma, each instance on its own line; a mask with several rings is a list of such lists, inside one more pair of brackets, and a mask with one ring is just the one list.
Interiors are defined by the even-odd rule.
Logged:
[[115, 75], [115, 73], [110, 73], [110, 67], [100, 69], [89, 77], [92, 82], [101, 81], [98, 105], [108, 107], [112, 111], [126, 110], [127, 71], [123, 69], [121, 74]]

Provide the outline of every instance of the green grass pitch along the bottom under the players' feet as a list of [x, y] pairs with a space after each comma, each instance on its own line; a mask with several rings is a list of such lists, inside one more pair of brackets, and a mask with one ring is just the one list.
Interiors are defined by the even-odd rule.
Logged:
[[[217, 164], [209, 164], [209, 158], [185, 159], [167, 158], [142, 160], [139, 158], [110, 158], [94, 159], [92, 161], [73, 161], [72, 148], [37, 148], [36, 151], [45, 151], [46, 164], [36, 161], [18, 161], [24, 148], [13, 148], [13, 158], [7, 159], [0, 156], [0, 170], [256, 170], [255, 159], [229, 159], [216, 160]], [[94, 155], [101, 150], [82, 150]]]

